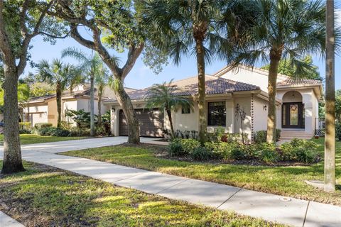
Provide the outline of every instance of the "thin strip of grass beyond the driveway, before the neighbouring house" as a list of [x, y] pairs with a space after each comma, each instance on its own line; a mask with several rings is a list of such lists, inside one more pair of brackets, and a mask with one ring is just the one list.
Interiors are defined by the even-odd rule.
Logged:
[[[65, 140], [80, 140], [87, 137], [80, 136], [70, 136], [70, 137], [61, 137], [61, 136], [42, 136], [42, 135], [33, 135], [33, 134], [21, 134], [20, 135], [20, 143], [23, 144], [32, 144], [32, 143], [48, 143], [48, 142], [57, 142], [57, 141], [65, 141]], [[4, 135], [0, 135], [0, 145], [4, 143]]]

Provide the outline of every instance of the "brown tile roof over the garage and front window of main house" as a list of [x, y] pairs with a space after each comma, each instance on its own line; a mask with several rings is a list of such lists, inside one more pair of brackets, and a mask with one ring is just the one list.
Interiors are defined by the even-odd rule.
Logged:
[[[174, 83], [173, 83], [174, 84]], [[254, 91], [259, 90], [258, 86], [252, 84], [246, 84], [242, 82], [236, 82], [230, 79], [217, 78], [208, 79], [205, 82], [206, 94], [228, 94], [232, 92], [244, 92], [244, 91]], [[148, 99], [151, 97], [148, 95], [149, 88], [140, 89], [133, 92], [128, 92], [130, 99]], [[197, 82], [193, 84], [184, 85], [183, 87], [178, 87], [175, 85], [173, 91], [173, 96], [193, 96], [198, 93]], [[117, 99], [107, 99], [104, 102], [116, 101]]]

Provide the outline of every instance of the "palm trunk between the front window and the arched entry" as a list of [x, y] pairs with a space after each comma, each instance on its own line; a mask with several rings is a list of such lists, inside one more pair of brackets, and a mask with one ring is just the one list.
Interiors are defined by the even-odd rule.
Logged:
[[271, 49], [270, 51], [270, 67], [268, 77], [268, 94], [269, 94], [269, 111], [266, 142], [275, 143], [276, 141], [276, 88], [278, 63], [281, 60], [281, 51]]

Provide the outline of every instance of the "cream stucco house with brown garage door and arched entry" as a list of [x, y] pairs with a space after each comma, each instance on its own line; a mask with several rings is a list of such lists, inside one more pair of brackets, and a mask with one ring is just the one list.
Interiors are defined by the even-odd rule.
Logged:
[[[249, 140], [256, 131], [266, 130], [268, 114], [267, 81], [268, 72], [244, 65], [235, 70], [224, 67], [213, 75], [206, 75], [207, 131], [224, 127], [226, 133], [247, 133]], [[318, 103], [323, 96], [322, 83], [314, 79], [293, 82], [283, 74], [278, 75], [277, 128], [283, 137], [306, 137], [315, 133], [315, 119], [318, 118]], [[194, 100], [194, 108], [173, 111], [175, 130], [197, 131], [199, 115], [197, 107], [197, 77], [173, 82], [178, 88], [175, 95], [188, 96]], [[167, 116], [156, 109], [145, 109], [148, 88], [128, 93], [140, 121], [141, 136], [162, 137], [163, 129], [170, 128]], [[103, 101], [111, 109], [113, 135], [127, 135], [127, 124], [117, 99]], [[241, 123], [235, 116], [237, 104], [246, 113]], [[243, 126], [243, 127], [242, 127]], [[242, 129], [243, 128], [243, 129]]]

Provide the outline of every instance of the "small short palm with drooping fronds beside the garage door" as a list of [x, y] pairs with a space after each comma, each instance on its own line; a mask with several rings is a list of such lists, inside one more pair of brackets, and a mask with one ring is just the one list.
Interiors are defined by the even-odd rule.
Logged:
[[179, 106], [185, 108], [191, 108], [193, 102], [190, 99], [176, 96], [176, 92], [179, 92], [171, 82], [163, 84], [153, 84], [153, 86], [148, 89], [145, 99], [147, 100], [146, 108], [153, 109], [158, 107], [162, 112], [166, 111], [169, 123], [171, 125], [172, 137], [174, 136], [174, 126], [172, 119], [172, 111], [178, 109]]

